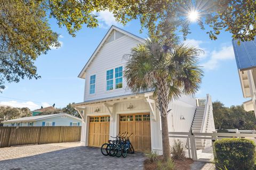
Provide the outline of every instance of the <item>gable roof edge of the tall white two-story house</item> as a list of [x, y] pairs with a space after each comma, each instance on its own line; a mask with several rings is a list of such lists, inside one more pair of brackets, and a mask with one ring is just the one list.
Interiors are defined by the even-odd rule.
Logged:
[[110, 29], [108, 30], [108, 32], [106, 33], [106, 35], [105, 35], [105, 36], [103, 37], [103, 39], [100, 41], [100, 44], [98, 45], [98, 47], [94, 50], [92, 56], [89, 58], [89, 60], [88, 60], [87, 63], [85, 64], [83, 70], [79, 73], [78, 78], [84, 79], [84, 73], [85, 73], [87, 67], [88, 67], [89, 64], [92, 62], [93, 58], [94, 58], [95, 56], [97, 56], [97, 53], [99, 52], [100, 48], [103, 46], [103, 44], [105, 44], [105, 42], [107, 41], [107, 39], [108, 39], [110, 33], [111, 33], [113, 30], [119, 31], [119, 32], [123, 33], [123, 34], [126, 35], [126, 36], [132, 37], [132, 38], [134, 38], [134, 39], [140, 41], [141, 43], [143, 43], [143, 42], [145, 41], [145, 39], [143, 39], [143, 38], [140, 38], [140, 37], [138, 37], [138, 36], [136, 36], [136, 35], [134, 35], [134, 34], [128, 32], [128, 31], [125, 31], [125, 30], [123, 30], [123, 29], [121, 29], [121, 28], [118, 28], [118, 27], [116, 27], [115, 25], [112, 25], [112, 26], [110, 27]]

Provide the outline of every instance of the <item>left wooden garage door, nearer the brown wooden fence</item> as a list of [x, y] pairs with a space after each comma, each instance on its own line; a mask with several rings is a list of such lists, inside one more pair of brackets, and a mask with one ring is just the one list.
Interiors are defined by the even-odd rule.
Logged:
[[101, 147], [109, 140], [109, 116], [91, 116], [89, 123], [89, 146]]

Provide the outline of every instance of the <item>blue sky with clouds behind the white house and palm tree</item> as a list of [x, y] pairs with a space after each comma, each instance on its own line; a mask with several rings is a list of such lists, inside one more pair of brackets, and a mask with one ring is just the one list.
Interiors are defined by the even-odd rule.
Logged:
[[[65, 28], [59, 28], [55, 20], [51, 27], [60, 33], [61, 47], [39, 56], [35, 62], [38, 80], [21, 80], [19, 83], [6, 83], [7, 88], [0, 94], [0, 105], [29, 107], [36, 109], [55, 103], [56, 107], [65, 107], [68, 103], [83, 101], [84, 80], [77, 78], [83, 66], [100, 43], [112, 24], [121, 26], [142, 38], [147, 32], [139, 33], [140, 23], [131, 21], [125, 27], [115, 22], [109, 12], [99, 13], [100, 27], [83, 27], [75, 38], [68, 35]], [[221, 32], [218, 40], [210, 40], [205, 31], [196, 23], [191, 24], [191, 34], [186, 43], [201, 48], [205, 54], [200, 56], [200, 65], [204, 66], [204, 78], [197, 97], [212, 96], [212, 100], [222, 101], [226, 106], [241, 105], [243, 98], [239, 82], [231, 34]]]

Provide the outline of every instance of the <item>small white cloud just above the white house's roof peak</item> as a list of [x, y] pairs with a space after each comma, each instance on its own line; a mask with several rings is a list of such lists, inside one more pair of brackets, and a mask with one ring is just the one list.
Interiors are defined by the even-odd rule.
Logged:
[[93, 12], [93, 14], [97, 15], [100, 28], [108, 29], [111, 25], [121, 26], [121, 24], [116, 21], [114, 14], [108, 10]]

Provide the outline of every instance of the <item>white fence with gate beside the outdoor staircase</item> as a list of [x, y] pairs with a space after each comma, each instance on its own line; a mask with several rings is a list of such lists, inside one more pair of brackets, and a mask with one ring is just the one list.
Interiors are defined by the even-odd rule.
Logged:
[[[170, 146], [174, 145], [174, 141], [182, 142], [186, 148], [186, 156], [196, 161], [214, 162], [213, 143], [223, 138], [246, 138], [256, 143], [256, 134], [254, 133], [191, 133], [191, 132], [169, 132]], [[196, 140], [202, 140], [201, 146], [198, 146]], [[196, 144], [197, 143], [197, 144]]]

